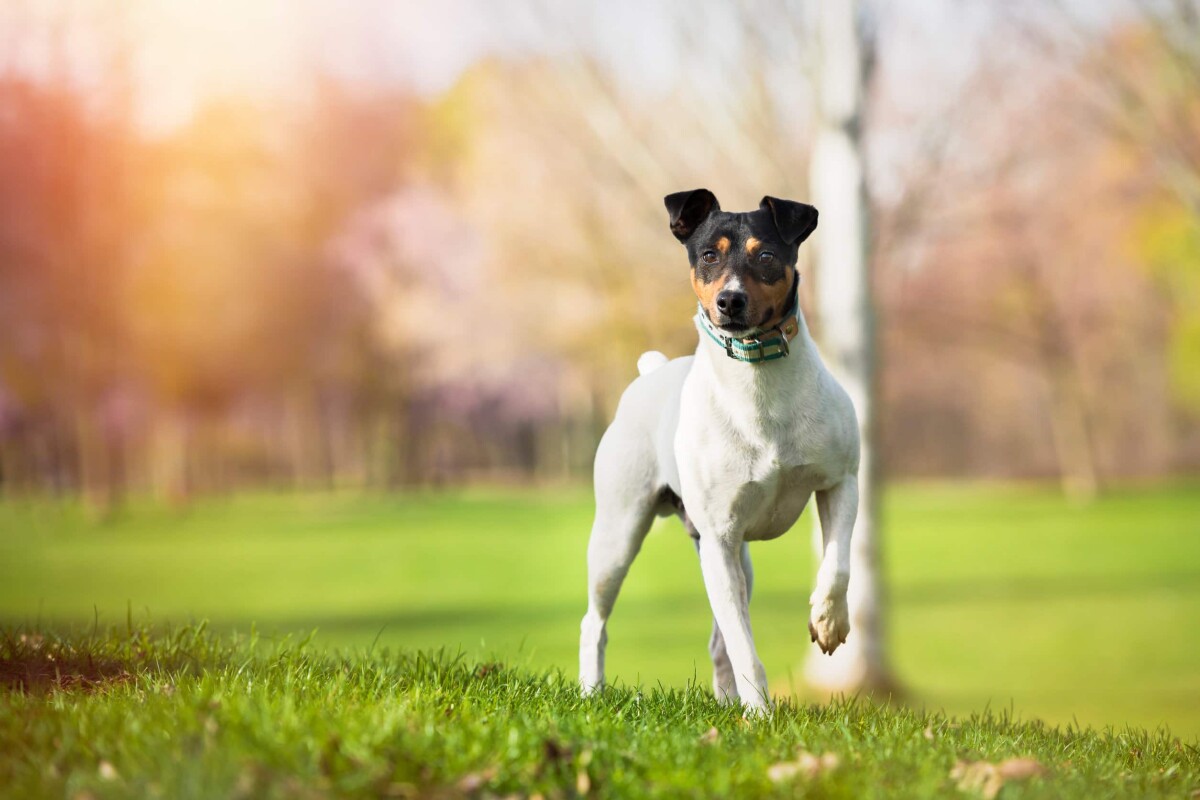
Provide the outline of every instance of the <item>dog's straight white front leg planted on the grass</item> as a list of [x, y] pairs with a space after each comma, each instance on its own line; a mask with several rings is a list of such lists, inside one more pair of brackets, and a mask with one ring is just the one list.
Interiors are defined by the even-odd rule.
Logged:
[[758, 661], [750, 633], [750, 596], [742, 570], [742, 542], [738, 537], [702, 534], [700, 569], [704, 575], [713, 618], [725, 639], [738, 698], [750, 709], [766, 710], [770, 705], [767, 673]]

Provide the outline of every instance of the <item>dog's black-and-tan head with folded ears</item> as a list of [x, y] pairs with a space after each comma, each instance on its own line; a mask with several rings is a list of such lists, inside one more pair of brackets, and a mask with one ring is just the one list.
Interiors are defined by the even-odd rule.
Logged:
[[817, 227], [811, 205], [764, 197], [757, 211], [721, 211], [707, 188], [664, 198], [688, 248], [691, 287], [708, 319], [732, 336], [778, 325], [792, 301], [796, 255]]

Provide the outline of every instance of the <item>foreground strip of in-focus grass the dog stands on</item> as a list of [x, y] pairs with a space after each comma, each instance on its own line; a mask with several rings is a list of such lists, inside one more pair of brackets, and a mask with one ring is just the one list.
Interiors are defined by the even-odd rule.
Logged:
[[[1200, 750], [1165, 733], [856, 702], [784, 702], [748, 721], [695, 686], [583, 699], [558, 672], [215, 638], [203, 625], [10, 630], [0, 681], [0, 794], [13, 798], [920, 798], [1001, 788], [1003, 798], [1180, 798], [1200, 786]], [[994, 765], [1012, 757], [1033, 759], [1039, 774], [1000, 782]], [[983, 764], [962, 764], [972, 762]]]

